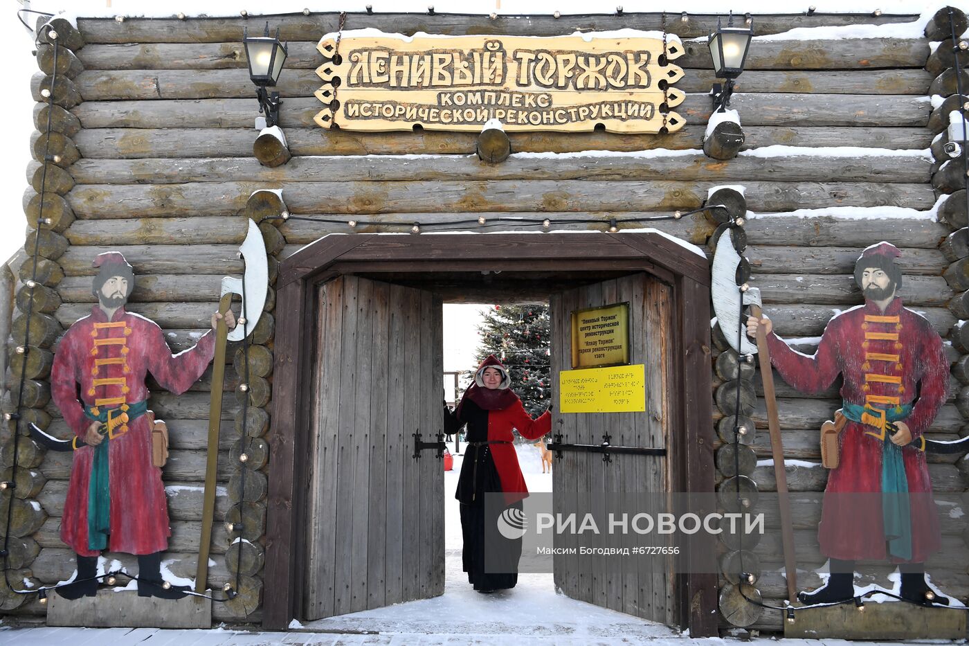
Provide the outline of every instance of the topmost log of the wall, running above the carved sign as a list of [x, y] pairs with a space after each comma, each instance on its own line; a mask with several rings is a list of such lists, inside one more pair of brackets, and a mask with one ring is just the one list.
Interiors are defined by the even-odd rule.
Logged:
[[[659, 14], [626, 14], [623, 16], [498, 16], [491, 20], [488, 16], [469, 16], [460, 14], [388, 13], [366, 16], [366, 26], [388, 33], [405, 35], [418, 31], [461, 36], [466, 34], [502, 34], [507, 36], [558, 36], [574, 31], [602, 31], [628, 27], [635, 16], [638, 29], [662, 30], [664, 19]], [[686, 21], [670, 20], [666, 25], [669, 33], [680, 38], [707, 36], [716, 27], [717, 14], [691, 14]], [[753, 21], [755, 36], [776, 34], [795, 27], [815, 27], [822, 25], [852, 24], [891, 24], [911, 22], [914, 15], [870, 14], [806, 14], [758, 15]], [[311, 41], [316, 43], [320, 34], [337, 31], [339, 14], [336, 12], [302, 16], [278, 16], [280, 39], [285, 41]], [[171, 18], [129, 17], [123, 23], [111, 18], [80, 18], [78, 27], [88, 43], [225, 43], [238, 41], [238, 35], [247, 24], [246, 18], [212, 17], [204, 20], [178, 20]], [[948, 23], [947, 23], [948, 25]], [[930, 38], [930, 40], [939, 40]]]

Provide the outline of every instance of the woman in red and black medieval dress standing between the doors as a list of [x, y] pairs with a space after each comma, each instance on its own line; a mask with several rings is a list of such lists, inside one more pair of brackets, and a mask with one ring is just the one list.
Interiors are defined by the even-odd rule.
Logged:
[[[512, 430], [527, 439], [538, 439], [551, 430], [551, 414], [546, 411], [533, 420], [510, 384], [508, 371], [491, 355], [478, 368], [475, 383], [457, 408], [444, 407], [445, 433], [452, 435], [467, 425], [468, 448], [454, 497], [460, 501], [464, 571], [468, 583], [480, 593], [514, 588], [518, 580], [521, 538], [508, 539], [498, 532], [503, 507], [520, 512], [521, 500], [528, 496]], [[504, 493], [504, 504], [495, 505], [492, 500], [485, 505], [485, 494], [496, 492]]]

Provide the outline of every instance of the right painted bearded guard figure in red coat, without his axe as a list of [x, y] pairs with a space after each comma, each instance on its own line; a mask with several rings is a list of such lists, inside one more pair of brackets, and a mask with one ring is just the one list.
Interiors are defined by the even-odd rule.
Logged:
[[948, 605], [925, 583], [925, 559], [939, 550], [939, 519], [922, 434], [946, 400], [949, 363], [942, 339], [897, 297], [900, 255], [889, 242], [866, 248], [855, 266], [864, 305], [828, 322], [814, 356], [771, 334], [769, 319], [751, 317], [747, 331], [766, 327], [774, 368], [797, 390], [818, 393], [843, 376], [840, 461], [825, 490], [818, 540], [829, 559], [828, 583], [804, 603], [853, 598], [855, 562], [898, 565], [901, 597]]

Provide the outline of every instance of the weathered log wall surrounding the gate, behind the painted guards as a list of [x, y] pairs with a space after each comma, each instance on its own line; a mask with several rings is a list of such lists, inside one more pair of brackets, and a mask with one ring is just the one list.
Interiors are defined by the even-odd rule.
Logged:
[[[916, 16], [754, 18], [756, 33], [767, 35], [794, 27], [910, 22]], [[676, 14], [668, 27], [684, 38], [686, 49], [676, 61], [686, 71], [679, 86], [687, 98], [677, 108], [687, 118], [682, 130], [664, 136], [513, 133], [515, 153], [559, 154], [514, 154], [492, 166], [474, 156], [474, 134], [364, 134], [317, 128], [312, 117], [322, 104], [312, 96], [320, 85], [313, 70], [322, 58], [315, 45], [323, 34], [335, 30], [337, 19], [335, 14], [313, 14], [270, 20], [281, 27], [282, 38], [290, 43], [279, 90], [284, 99], [281, 126], [294, 156], [277, 168], [266, 168], [253, 158], [257, 104], [240, 43], [243, 27], [253, 26], [247, 20], [236, 16], [78, 21], [78, 38], [68, 48], [74, 56], [61, 64], [53, 105], [39, 102], [35, 111], [39, 132], [33, 145], [35, 161], [27, 168], [31, 188], [24, 196], [32, 226], [36, 226], [42, 203], [52, 218], [48, 225], [52, 231], [42, 226], [37, 236], [42, 249], [38, 271], [43, 278], [38, 281], [49, 291], [44, 292], [49, 311], [35, 314], [30, 321], [31, 329], [43, 333], [48, 349], [61, 330], [91, 306], [86, 288], [94, 273], [90, 261], [109, 249], [125, 253], [136, 273], [144, 276], [131, 309], [157, 321], [173, 351], [191, 346], [216, 307], [219, 278], [241, 270], [235, 249], [252, 216], [250, 196], [260, 189], [282, 189], [287, 210], [312, 218], [277, 220], [278, 227], [264, 223], [270, 251], [281, 259], [328, 233], [402, 232], [409, 231], [415, 221], [467, 229], [467, 225], [449, 223], [480, 215], [490, 220], [482, 231], [541, 230], [540, 224], [496, 219], [510, 216], [539, 221], [548, 217], [556, 222], [556, 229], [603, 231], [612, 218], [696, 209], [703, 205], [710, 188], [742, 184], [748, 208], [755, 211], [743, 227], [749, 244], [745, 255], [753, 272], [750, 283], [762, 288], [766, 313], [782, 336], [817, 337], [834, 311], [860, 303], [851, 277], [854, 261], [860, 249], [881, 240], [901, 248], [900, 264], [906, 275], [903, 296], [943, 337], [949, 337], [957, 321], [966, 318], [960, 305], [964, 301], [953, 299], [961, 299], [969, 289], [960, 277], [966, 263], [946, 273], [950, 264], [964, 261], [969, 254], [961, 251], [964, 244], [944, 244], [953, 229], [967, 224], [965, 192], [960, 196], [955, 190], [948, 206], [937, 205], [941, 191], [933, 186], [933, 175], [938, 175], [941, 160], [927, 150], [938, 147], [933, 145], [933, 135], [939, 130], [930, 126], [932, 103], [927, 95], [940, 74], [929, 63], [927, 36], [755, 40], [732, 103], [740, 114], [745, 142], [737, 157], [718, 161], [702, 153], [710, 113], [709, 55], [703, 42], [686, 40], [705, 36], [716, 16], [689, 16], [682, 21]], [[348, 29], [453, 35], [556, 35], [630, 26], [660, 29], [662, 25], [660, 16], [630, 14], [497, 20], [487, 16], [352, 14], [346, 24]], [[933, 36], [933, 40], [941, 39]], [[49, 86], [52, 62], [49, 50], [39, 53], [41, 72], [32, 92], [42, 99], [40, 90]], [[45, 162], [46, 145], [59, 161]], [[771, 145], [793, 147], [766, 150]], [[855, 147], [834, 149], [836, 146]], [[831, 148], [828, 154], [826, 148]], [[585, 150], [598, 154], [578, 154]], [[614, 154], [603, 155], [602, 151]], [[403, 154], [418, 156], [403, 163], [399, 156]], [[47, 190], [41, 196], [38, 172], [44, 163]], [[939, 181], [941, 178], [936, 184]], [[933, 215], [935, 207], [938, 218]], [[859, 212], [863, 218], [853, 217]], [[351, 228], [346, 224], [351, 219], [374, 224]], [[589, 223], [589, 219], [601, 223]], [[638, 226], [619, 223], [620, 229]], [[715, 223], [695, 215], [650, 226], [703, 246]], [[25, 279], [22, 272], [20, 277]], [[957, 292], [953, 292], [953, 284]], [[15, 323], [15, 340], [17, 330]], [[969, 333], [969, 326], [965, 330]], [[965, 336], [969, 341], [969, 334]], [[256, 343], [268, 350], [271, 337], [270, 333]], [[952, 339], [955, 362], [969, 353], [969, 343], [960, 344], [963, 341], [957, 330]], [[804, 341], [801, 347], [811, 351], [811, 339]], [[230, 347], [230, 361], [236, 350]], [[716, 362], [719, 353], [713, 355]], [[16, 366], [16, 357], [12, 366]], [[711, 370], [718, 389], [736, 378], [718, 373], [716, 365]], [[42, 369], [28, 378], [43, 383], [46, 376]], [[962, 377], [958, 387], [969, 383], [966, 371], [957, 376]], [[260, 377], [267, 392], [271, 374]], [[249, 381], [250, 396], [255, 397], [260, 384], [251, 377]], [[757, 397], [759, 377], [748, 381], [756, 399], [750, 416], [758, 428], [750, 436], [750, 447], [755, 457], [765, 459], [769, 443], [763, 400]], [[198, 547], [201, 518], [193, 501], [203, 480], [209, 383], [203, 378], [194, 392], [179, 398], [159, 394], [152, 399], [154, 408], [166, 416], [172, 434], [176, 460], [165, 471], [172, 508], [170, 557], [175, 560], [172, 570], [186, 576], [194, 572], [192, 553]], [[235, 390], [238, 383], [234, 367], [228, 367], [227, 390]], [[969, 393], [960, 399], [956, 389], [931, 430], [939, 437], [963, 433], [962, 410], [969, 412], [969, 406], [959, 402], [969, 402]], [[837, 407], [835, 392], [807, 398], [778, 381], [778, 393], [787, 456], [816, 465], [820, 462], [816, 430]], [[266, 401], [251, 399], [250, 404], [260, 408]], [[47, 421], [52, 433], [65, 431], [52, 405], [39, 400], [33, 410], [37, 412], [31, 414]], [[226, 559], [221, 556], [232, 539], [223, 528], [224, 515], [233, 502], [248, 502], [244, 493], [233, 498], [232, 478], [239, 472], [237, 457], [244, 450], [238, 445], [233, 423], [239, 414], [235, 398], [227, 398], [224, 413], [220, 443], [228, 457], [220, 463], [220, 484], [225, 489], [220, 490], [216, 506], [212, 553], [217, 565], [210, 569], [209, 580], [216, 586], [234, 573], [234, 554]], [[711, 420], [718, 430], [725, 428], [721, 414]], [[719, 436], [720, 441], [729, 441], [723, 433]], [[24, 536], [24, 553], [36, 553], [37, 558], [32, 563], [25, 559], [21, 567], [32, 567], [30, 576], [51, 583], [64, 578], [66, 571], [64, 546], [56, 530], [68, 465], [63, 456], [48, 455], [37, 458], [34, 468], [47, 478], [36, 499], [45, 518]], [[939, 491], [947, 495], [964, 491], [961, 471], [952, 462], [933, 462], [931, 470]], [[253, 471], [271, 474], [271, 456]], [[746, 475], [764, 490], [773, 482], [766, 466], [755, 465]], [[789, 468], [788, 479], [792, 489], [820, 492], [825, 475], [820, 467], [799, 466]], [[247, 509], [261, 513], [260, 504], [252, 501], [254, 506]], [[961, 533], [957, 525], [945, 525], [947, 537]], [[797, 532], [798, 545], [805, 550], [804, 564], [814, 565], [816, 558], [809, 547], [815, 542], [813, 533], [808, 527], [798, 527]], [[250, 565], [261, 564], [261, 540], [260, 534], [250, 540], [256, 546], [256, 554], [247, 552]], [[753, 553], [763, 570], [757, 588], [770, 601], [785, 596], [785, 584], [776, 573], [779, 543], [766, 543], [769, 541]], [[730, 583], [730, 571], [725, 567], [724, 586]], [[941, 572], [938, 576], [932, 573], [933, 581], [942, 578]], [[252, 577], [247, 583], [258, 590], [259, 567], [247, 567], [243, 574]], [[951, 592], [965, 600], [969, 576], [961, 567], [949, 568], [946, 576]], [[808, 577], [801, 585], [810, 587], [813, 582]], [[248, 612], [249, 608], [216, 604], [213, 610], [220, 619], [260, 618], [258, 610]], [[30, 601], [16, 611], [38, 614], [44, 610]], [[723, 626], [729, 626], [726, 620]], [[765, 612], [750, 627], [777, 630], [779, 613]]]

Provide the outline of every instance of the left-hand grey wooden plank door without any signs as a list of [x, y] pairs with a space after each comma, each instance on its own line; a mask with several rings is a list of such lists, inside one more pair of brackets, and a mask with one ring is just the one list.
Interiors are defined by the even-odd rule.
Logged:
[[303, 616], [444, 593], [442, 307], [353, 275], [318, 290]]

